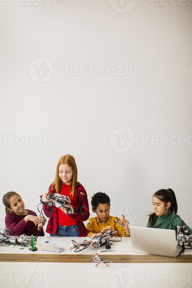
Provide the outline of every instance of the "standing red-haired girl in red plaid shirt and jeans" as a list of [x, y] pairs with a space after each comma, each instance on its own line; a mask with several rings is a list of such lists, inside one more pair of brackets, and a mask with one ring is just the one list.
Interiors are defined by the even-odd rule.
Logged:
[[86, 236], [89, 231], [83, 221], [89, 218], [89, 204], [85, 188], [77, 182], [77, 166], [73, 156], [68, 154], [59, 159], [55, 180], [49, 186], [48, 192], [40, 196], [42, 202], [49, 201], [49, 193], [67, 195], [73, 208], [72, 213], [68, 215], [65, 208], [43, 204], [43, 211], [49, 218], [46, 232], [50, 236]]

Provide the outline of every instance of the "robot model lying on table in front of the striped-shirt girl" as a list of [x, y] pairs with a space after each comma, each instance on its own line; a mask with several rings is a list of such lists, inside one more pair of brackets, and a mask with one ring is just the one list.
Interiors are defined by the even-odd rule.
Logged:
[[[20, 245], [25, 248], [26, 245], [31, 242], [31, 237], [32, 236], [26, 236], [25, 234], [19, 236], [6, 236], [5, 234], [0, 233], [0, 246], [8, 246], [9, 244], [14, 244], [14, 246]], [[35, 242], [36, 240], [37, 237], [34, 237], [33, 241]]]

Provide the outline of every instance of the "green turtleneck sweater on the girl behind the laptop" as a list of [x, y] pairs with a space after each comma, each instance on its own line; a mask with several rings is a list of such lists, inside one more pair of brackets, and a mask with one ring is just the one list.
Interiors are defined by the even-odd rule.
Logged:
[[[157, 216], [157, 221], [154, 224], [154, 227], [151, 227], [149, 224], [149, 220], [147, 222], [147, 227], [149, 228], [160, 228], [160, 229], [171, 229], [175, 230], [177, 226], [181, 224], [182, 219], [179, 215], [175, 214], [174, 212], [167, 212], [165, 215]], [[192, 233], [192, 229], [186, 224], [189, 231]]]

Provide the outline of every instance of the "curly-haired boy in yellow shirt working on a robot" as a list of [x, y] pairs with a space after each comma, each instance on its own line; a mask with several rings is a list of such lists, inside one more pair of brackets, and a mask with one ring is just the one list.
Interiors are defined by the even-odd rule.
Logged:
[[86, 228], [90, 231], [87, 236], [95, 237], [102, 236], [107, 230], [115, 230], [121, 237], [130, 237], [129, 222], [122, 215], [122, 219], [117, 218], [119, 223], [123, 226], [119, 226], [114, 223], [116, 217], [110, 216], [110, 198], [108, 195], [102, 192], [93, 194], [91, 198], [92, 211], [97, 214], [97, 217], [89, 218]]

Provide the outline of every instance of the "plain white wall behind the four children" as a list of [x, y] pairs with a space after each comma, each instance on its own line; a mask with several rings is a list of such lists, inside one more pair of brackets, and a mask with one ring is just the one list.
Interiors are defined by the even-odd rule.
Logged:
[[[36, 0], [32, 6], [24, 0], [11, 3], [0, 4], [1, 196], [16, 191], [26, 208], [36, 211], [58, 159], [71, 154], [89, 202], [93, 193], [106, 192], [112, 215], [123, 212], [130, 225], [146, 226], [153, 193], [172, 188], [178, 215], [192, 227], [192, 143], [179, 145], [181, 138], [176, 145], [150, 142], [154, 135], [192, 135], [192, 3], [155, 6], [131, 0], [127, 13], [119, 13], [126, 10], [117, 9], [117, 0], [54, 0], [48, 9]], [[41, 66], [38, 77], [34, 65], [42, 62], [49, 71], [43, 77]], [[63, 76], [59, 64], [65, 69], [67, 63], [127, 66], [132, 72], [128, 79], [106, 73]], [[120, 127], [131, 128], [134, 138], [128, 133], [130, 141], [124, 142], [127, 130]], [[11, 142], [9, 133], [15, 137]], [[144, 145], [141, 134], [148, 133]], [[43, 141], [27, 145], [28, 135], [52, 140], [44, 149]], [[0, 208], [3, 228], [2, 202]]]

